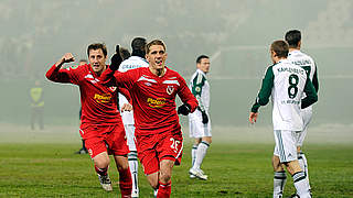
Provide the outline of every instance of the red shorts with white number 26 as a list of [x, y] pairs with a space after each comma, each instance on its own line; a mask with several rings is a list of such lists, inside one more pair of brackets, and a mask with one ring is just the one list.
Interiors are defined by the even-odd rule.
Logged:
[[181, 133], [164, 132], [138, 135], [136, 139], [138, 156], [146, 175], [158, 172], [162, 160], [174, 161], [175, 165], [180, 165], [183, 153], [183, 136]]

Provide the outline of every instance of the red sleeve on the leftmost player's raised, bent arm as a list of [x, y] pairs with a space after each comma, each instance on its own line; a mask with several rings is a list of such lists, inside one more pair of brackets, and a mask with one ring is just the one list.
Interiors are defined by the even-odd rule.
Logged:
[[71, 82], [78, 84], [79, 75], [78, 75], [78, 66], [68, 67], [68, 68], [60, 68], [56, 67], [55, 64], [46, 72], [45, 76], [49, 80], [55, 82]]

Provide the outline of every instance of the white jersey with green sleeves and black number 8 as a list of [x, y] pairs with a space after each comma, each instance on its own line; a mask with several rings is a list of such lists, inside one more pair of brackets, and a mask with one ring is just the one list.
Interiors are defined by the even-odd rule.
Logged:
[[[303, 92], [307, 97], [301, 99]], [[266, 106], [270, 96], [274, 130], [301, 131], [303, 128], [301, 108], [307, 108], [318, 100], [306, 70], [288, 59], [281, 59], [267, 68], [252, 112], [257, 112], [260, 106]]]

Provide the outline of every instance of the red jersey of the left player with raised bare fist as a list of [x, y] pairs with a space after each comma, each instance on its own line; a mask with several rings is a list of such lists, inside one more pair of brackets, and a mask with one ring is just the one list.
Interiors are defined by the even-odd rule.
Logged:
[[74, 84], [79, 87], [82, 103], [82, 124], [109, 125], [121, 123], [117, 109], [116, 87], [99, 84], [98, 76], [90, 65], [57, 68], [53, 65], [46, 78], [55, 82]]

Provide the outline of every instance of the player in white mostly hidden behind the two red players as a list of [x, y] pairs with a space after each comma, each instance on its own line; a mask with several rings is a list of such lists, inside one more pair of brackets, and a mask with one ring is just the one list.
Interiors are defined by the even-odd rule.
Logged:
[[[131, 42], [132, 56], [124, 61], [120, 64], [119, 72], [125, 73], [130, 69], [139, 67], [148, 67], [148, 62], [145, 59], [146, 55], [146, 38], [135, 37]], [[128, 105], [129, 101], [126, 97], [119, 94], [119, 107], [121, 112], [121, 119], [127, 136], [127, 142], [129, 145], [130, 153], [128, 154], [129, 167], [132, 177], [132, 197], [139, 197], [138, 188], [138, 160], [137, 160], [137, 148], [135, 145], [135, 122], [133, 122], [133, 112], [132, 111], [121, 111], [121, 108]]]

